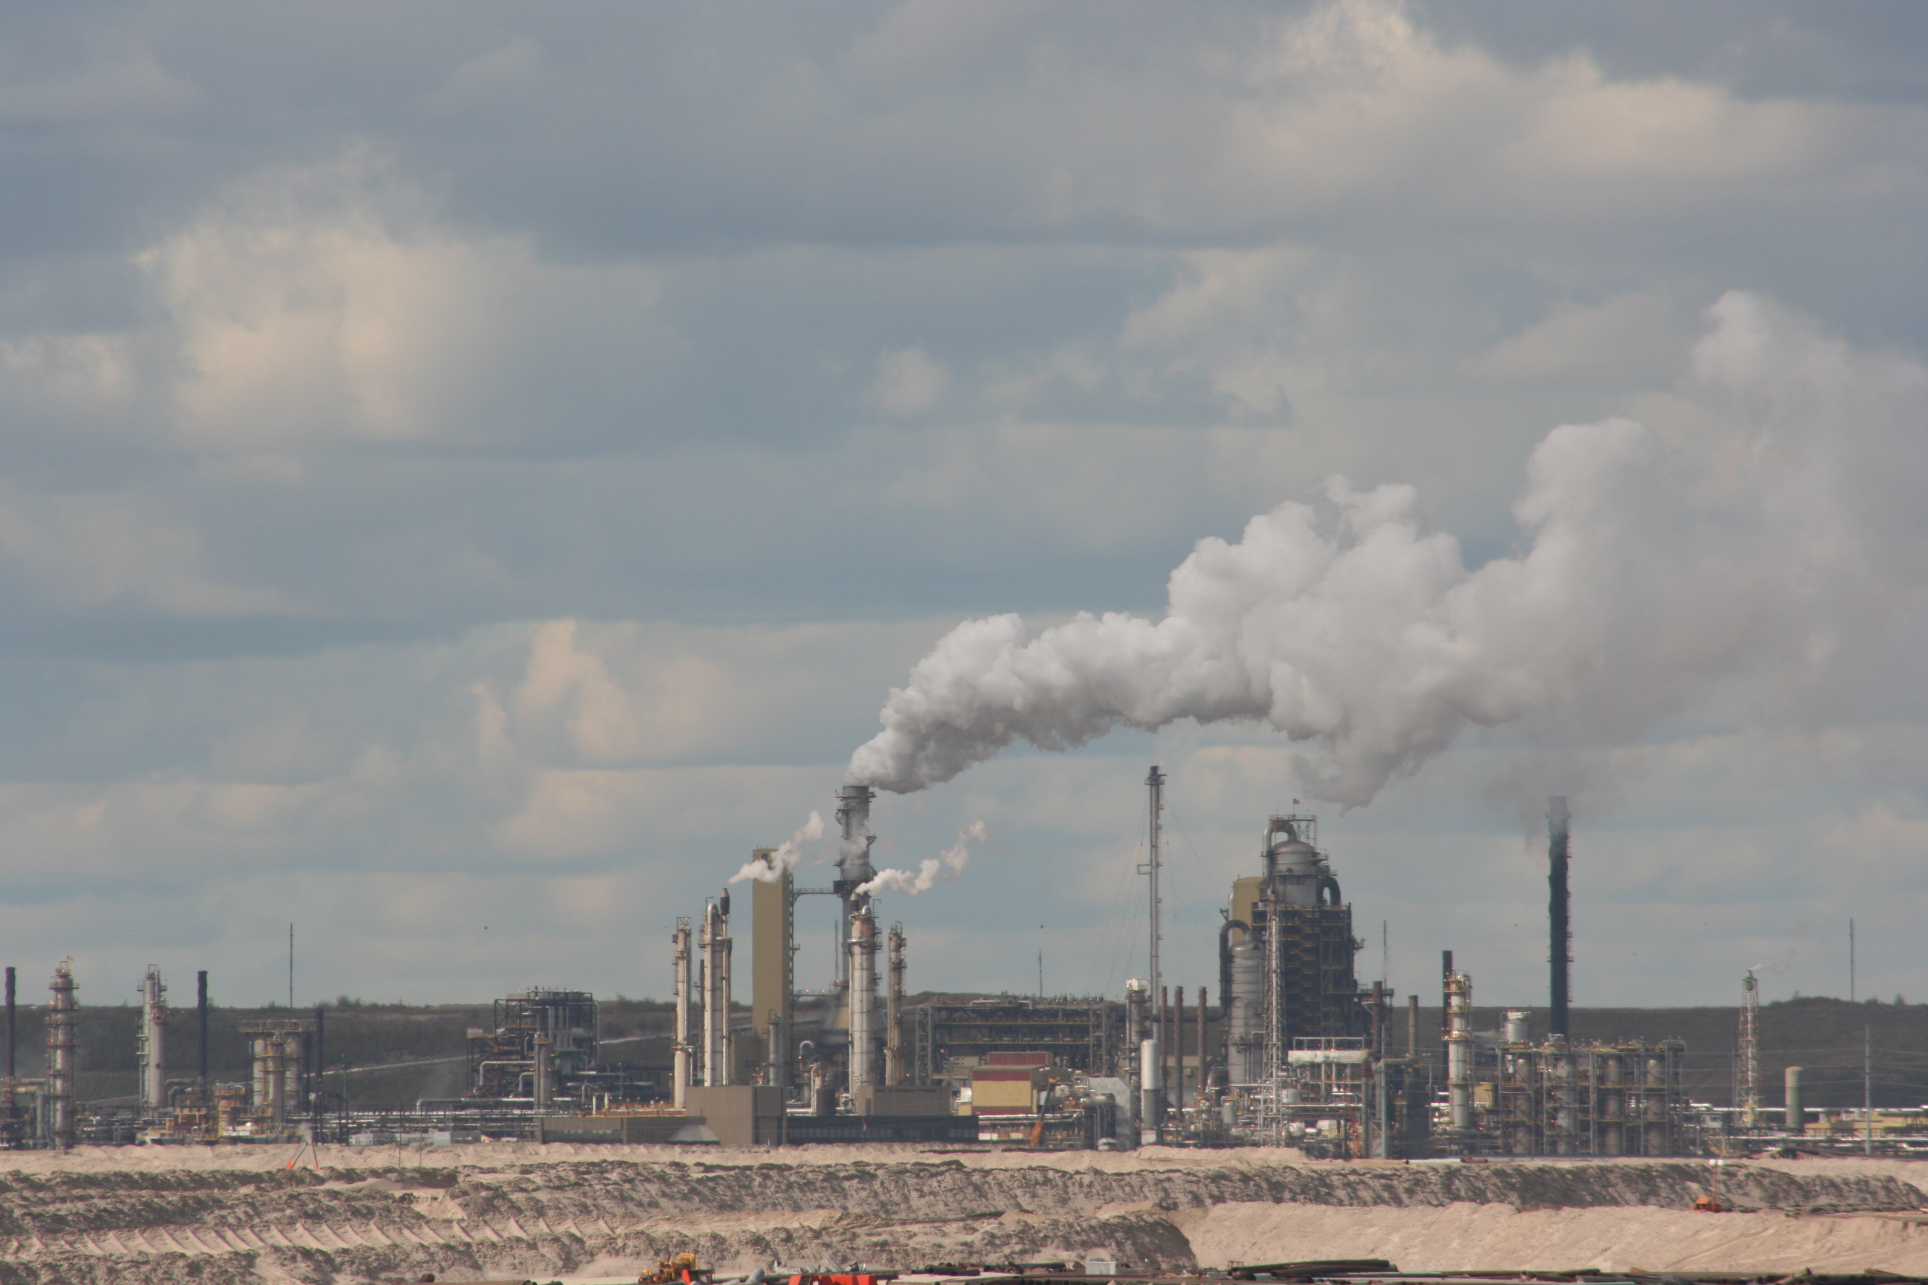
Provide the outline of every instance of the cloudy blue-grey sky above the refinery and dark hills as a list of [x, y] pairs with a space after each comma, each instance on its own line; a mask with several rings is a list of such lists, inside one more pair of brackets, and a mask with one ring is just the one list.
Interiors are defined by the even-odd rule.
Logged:
[[21, 10], [0, 954], [665, 996], [924, 682], [914, 990], [1120, 996], [1157, 763], [1170, 983], [1303, 809], [1544, 1006], [1567, 794], [1575, 1004], [1928, 1000], [1924, 287], [1913, 2]]

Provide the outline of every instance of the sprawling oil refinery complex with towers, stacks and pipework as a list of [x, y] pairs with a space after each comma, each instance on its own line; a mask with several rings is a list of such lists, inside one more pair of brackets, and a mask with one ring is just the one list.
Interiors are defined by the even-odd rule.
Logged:
[[[1548, 1008], [1508, 1010], [1473, 1029], [1473, 977], [1442, 954], [1436, 1031], [1421, 996], [1361, 984], [1353, 907], [1319, 846], [1315, 815], [1274, 815], [1247, 875], [1228, 890], [1217, 992], [1161, 975], [1163, 773], [1147, 786], [1147, 977], [1112, 998], [925, 998], [906, 1002], [914, 952], [881, 925], [868, 888], [873, 792], [837, 796], [837, 865], [798, 880], [794, 853], [758, 850], [744, 890], [677, 921], [671, 1056], [663, 1073], [607, 1060], [594, 994], [528, 988], [494, 1002], [467, 1035], [465, 1087], [407, 1110], [349, 1110], [322, 1090], [326, 1010], [239, 1027], [251, 1077], [208, 1075], [208, 975], [197, 1017], [175, 1015], [158, 969], [141, 979], [139, 1102], [75, 1098], [71, 961], [54, 969], [44, 1075], [17, 1075], [15, 969], [6, 969], [8, 1077], [0, 1144], [536, 1139], [785, 1146], [806, 1142], [1022, 1144], [1132, 1150], [1147, 1144], [1296, 1146], [1326, 1158], [1687, 1156], [1737, 1139], [1810, 1150], [1872, 1150], [1868, 1127], [1808, 1121], [1801, 1071], [1768, 1110], [1760, 1087], [1758, 990], [1743, 983], [1735, 1106], [1689, 1100], [1685, 1042], [1579, 1040], [1567, 1021], [1566, 800], [1548, 807]], [[746, 892], [746, 896], [744, 896]], [[837, 902], [835, 975], [796, 973], [796, 905]], [[748, 905], [744, 905], [748, 902]], [[736, 940], [748, 909], [748, 996]], [[744, 1004], [748, 998], [748, 1004]], [[175, 1038], [170, 1044], [170, 1027]], [[1436, 1036], [1436, 1042], [1434, 1042]], [[195, 1048], [193, 1063], [181, 1048]], [[174, 1058], [170, 1060], [170, 1048]], [[1440, 1052], [1434, 1052], [1438, 1048]], [[1889, 1129], [1884, 1129], [1888, 1133]], [[1907, 1150], [1907, 1139], [1884, 1139]]]

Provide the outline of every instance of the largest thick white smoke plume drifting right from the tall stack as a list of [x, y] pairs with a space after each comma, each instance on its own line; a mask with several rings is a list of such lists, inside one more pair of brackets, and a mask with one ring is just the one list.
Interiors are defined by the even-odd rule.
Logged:
[[1332, 478], [1323, 507], [1201, 539], [1163, 618], [956, 626], [846, 780], [912, 792], [1012, 742], [1236, 721], [1309, 742], [1301, 788], [1361, 805], [1467, 726], [1627, 744], [1739, 678], [1837, 682], [1843, 638], [1918, 595], [1918, 541], [1889, 528], [1918, 526], [1928, 372], [1753, 295], [1708, 316], [1666, 435], [1616, 418], [1540, 441], [1512, 557], [1467, 568], [1411, 485]]

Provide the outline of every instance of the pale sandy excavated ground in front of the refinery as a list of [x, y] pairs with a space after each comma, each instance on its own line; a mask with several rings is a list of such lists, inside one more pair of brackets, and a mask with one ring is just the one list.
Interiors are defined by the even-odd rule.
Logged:
[[[1296, 1152], [700, 1152], [488, 1144], [83, 1148], [0, 1160], [0, 1285], [634, 1279], [694, 1248], [748, 1270], [1080, 1260], [1157, 1270], [1390, 1258], [1407, 1272], [1928, 1273], [1928, 1167], [1342, 1164]], [[1920, 1171], [1918, 1171], [1920, 1169]]]

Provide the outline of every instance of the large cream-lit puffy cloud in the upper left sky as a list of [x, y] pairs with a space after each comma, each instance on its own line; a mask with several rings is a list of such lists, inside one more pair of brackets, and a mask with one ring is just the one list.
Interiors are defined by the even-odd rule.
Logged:
[[557, 432], [549, 395], [602, 366], [617, 408], [677, 349], [650, 272], [447, 227], [366, 146], [253, 177], [139, 264], [204, 451], [567, 441], [607, 430]]

